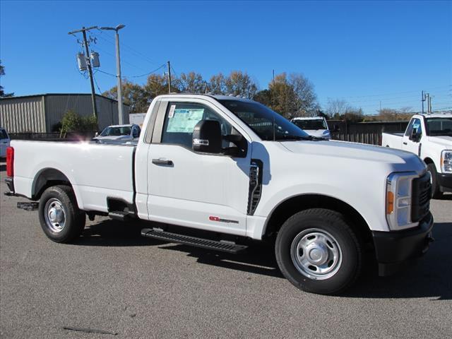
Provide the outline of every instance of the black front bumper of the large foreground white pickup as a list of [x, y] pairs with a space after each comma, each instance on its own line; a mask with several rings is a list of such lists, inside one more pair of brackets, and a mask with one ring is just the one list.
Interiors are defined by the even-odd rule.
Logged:
[[432, 228], [433, 216], [429, 213], [414, 230], [372, 232], [379, 275], [391, 275], [424, 255], [433, 241]]

